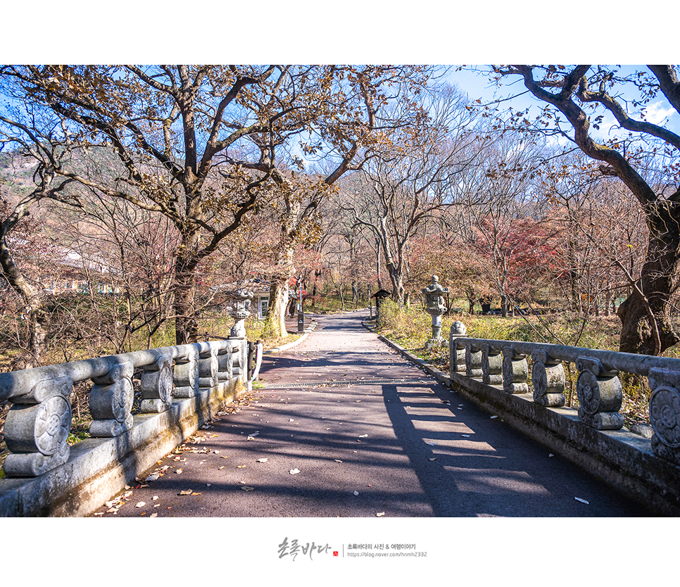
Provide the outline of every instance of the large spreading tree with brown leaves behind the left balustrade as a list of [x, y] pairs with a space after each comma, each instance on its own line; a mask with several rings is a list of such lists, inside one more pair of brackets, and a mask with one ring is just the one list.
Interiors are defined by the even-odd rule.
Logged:
[[[420, 84], [424, 68], [384, 65], [6, 65], [3, 88], [66, 121], [53, 138], [98, 145], [114, 177], [61, 168], [62, 177], [168, 217], [175, 255], [177, 343], [196, 339], [197, 268], [276, 187], [286, 201], [280, 254], [295, 241], [325, 187], [379, 139], [389, 83]], [[358, 112], [360, 114], [358, 114]], [[30, 119], [23, 119], [30, 127]], [[294, 139], [298, 155], [289, 153]], [[338, 161], [298, 220], [297, 186], [282, 172], [308, 156]], [[279, 161], [279, 159], [281, 159]], [[285, 279], [275, 279], [285, 285]], [[274, 297], [278, 299], [277, 290]]]

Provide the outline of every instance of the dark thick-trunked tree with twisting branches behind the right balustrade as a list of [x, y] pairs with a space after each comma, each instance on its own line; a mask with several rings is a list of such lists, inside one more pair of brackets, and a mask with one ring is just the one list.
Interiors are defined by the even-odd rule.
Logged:
[[[631, 295], [617, 310], [619, 349], [629, 353], [660, 355], [680, 341], [669, 315], [680, 285], [680, 135], [648, 115], [656, 101], [680, 112], [676, 67], [648, 65], [626, 73], [608, 65], [493, 66], [498, 80], [520, 76], [524, 87], [547, 105], [536, 120], [520, 113], [511, 122], [573, 141], [601, 162], [603, 175], [618, 177], [628, 187], [645, 214], [646, 260]], [[616, 138], [598, 137], [605, 115], [616, 120]]]

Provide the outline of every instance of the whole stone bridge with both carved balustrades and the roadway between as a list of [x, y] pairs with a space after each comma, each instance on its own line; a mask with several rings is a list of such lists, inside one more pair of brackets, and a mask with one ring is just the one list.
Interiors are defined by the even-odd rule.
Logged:
[[[322, 317], [264, 358], [235, 329], [1, 374], [13, 408], [0, 515], [680, 512], [680, 361], [474, 339], [457, 323], [443, 373], [380, 340], [366, 315]], [[565, 408], [565, 365], [578, 411]], [[623, 372], [649, 377], [648, 433], [622, 427]], [[70, 389], [88, 379], [92, 438], [68, 446]]]

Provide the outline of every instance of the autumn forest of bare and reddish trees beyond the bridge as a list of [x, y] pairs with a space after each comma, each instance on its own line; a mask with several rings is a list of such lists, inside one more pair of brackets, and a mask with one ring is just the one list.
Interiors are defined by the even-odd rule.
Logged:
[[[435, 66], [4, 66], [4, 369], [220, 336], [223, 293], [255, 279], [258, 338], [286, 336], [287, 290], [408, 307], [437, 274], [451, 310], [536, 340], [580, 345], [601, 318], [622, 350], [672, 348], [676, 135], [645, 118], [675, 106], [668, 76], [527, 67], [485, 75], [524, 76], [534, 117]], [[597, 108], [623, 139], [593, 140]]]

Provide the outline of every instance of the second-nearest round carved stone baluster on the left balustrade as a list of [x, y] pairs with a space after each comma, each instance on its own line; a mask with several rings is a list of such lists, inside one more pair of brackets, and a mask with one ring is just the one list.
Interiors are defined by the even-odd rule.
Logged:
[[130, 363], [115, 365], [103, 377], [93, 377], [89, 411], [93, 438], [113, 438], [132, 428], [132, 372]]

